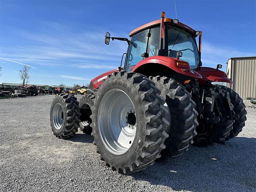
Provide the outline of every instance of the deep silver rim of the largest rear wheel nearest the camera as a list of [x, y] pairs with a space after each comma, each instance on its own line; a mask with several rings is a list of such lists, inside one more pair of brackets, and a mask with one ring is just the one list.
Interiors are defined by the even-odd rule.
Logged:
[[136, 113], [123, 90], [112, 89], [103, 96], [98, 110], [98, 131], [112, 154], [124, 154], [132, 146], [136, 135]]

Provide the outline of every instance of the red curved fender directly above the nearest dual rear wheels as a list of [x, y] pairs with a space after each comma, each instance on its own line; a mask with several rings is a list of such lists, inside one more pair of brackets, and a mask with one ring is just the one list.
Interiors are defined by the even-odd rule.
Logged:
[[[180, 62], [181, 65], [178, 66], [177, 62]], [[172, 58], [172, 57], [166, 57], [166, 56], [152, 56], [152, 57], [143, 59], [138, 64], [136, 64], [136, 66], [134, 66], [134, 68], [132, 69], [132, 72], [138, 70], [138, 68], [140, 68], [141, 66], [149, 63], [162, 64], [182, 75], [190, 76], [192, 78], [202, 79], [202, 76], [198, 72], [190, 68], [188, 62], [178, 58]]]

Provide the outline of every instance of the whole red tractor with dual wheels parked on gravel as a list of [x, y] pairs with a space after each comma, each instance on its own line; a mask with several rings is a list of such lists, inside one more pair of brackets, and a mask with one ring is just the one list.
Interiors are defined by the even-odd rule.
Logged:
[[130, 32], [130, 40], [107, 32], [105, 44], [128, 43], [124, 67], [121, 61], [118, 69], [94, 78], [80, 102], [59, 94], [51, 106], [54, 135], [68, 138], [79, 127], [91, 133], [101, 160], [118, 172], [171, 160], [193, 143], [224, 144], [245, 125], [239, 95], [212, 84], [232, 83], [222, 66], [202, 67], [202, 32], [164, 15]]

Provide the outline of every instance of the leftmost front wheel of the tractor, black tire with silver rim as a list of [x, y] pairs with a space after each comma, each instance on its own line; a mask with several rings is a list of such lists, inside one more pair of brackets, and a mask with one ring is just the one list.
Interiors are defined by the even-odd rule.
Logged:
[[62, 93], [55, 96], [50, 109], [50, 123], [53, 134], [58, 138], [69, 138], [76, 134], [80, 107], [74, 95]]

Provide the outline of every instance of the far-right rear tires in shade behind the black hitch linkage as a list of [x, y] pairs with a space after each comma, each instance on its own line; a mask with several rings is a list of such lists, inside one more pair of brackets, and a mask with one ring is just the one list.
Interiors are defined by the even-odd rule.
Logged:
[[[198, 127], [199, 136], [194, 139], [194, 144], [197, 146], [207, 146], [207, 144], [212, 144], [213, 142], [224, 144], [237, 136], [245, 126], [247, 112], [242, 98], [226, 86], [214, 85], [213, 88], [222, 90], [222, 93], [229, 93], [230, 106], [225, 104], [222, 98], [216, 99], [215, 102], [218, 104], [218, 108], [214, 105], [214, 111], [216, 118], [219, 118], [220, 122], [216, 124], [200, 124]], [[206, 103], [204, 104], [204, 109], [208, 108], [210, 110], [210, 106], [210, 103]], [[232, 111], [232, 119], [230, 119], [229, 115], [230, 110]]]

